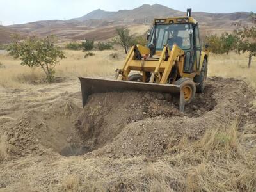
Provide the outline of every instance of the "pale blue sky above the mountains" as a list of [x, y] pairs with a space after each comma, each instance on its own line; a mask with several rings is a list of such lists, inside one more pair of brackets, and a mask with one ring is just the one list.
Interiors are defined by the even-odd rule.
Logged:
[[193, 8], [194, 11], [211, 13], [256, 12], [256, 0], [0, 0], [0, 24], [72, 19], [98, 8], [116, 11], [155, 3], [180, 11]]

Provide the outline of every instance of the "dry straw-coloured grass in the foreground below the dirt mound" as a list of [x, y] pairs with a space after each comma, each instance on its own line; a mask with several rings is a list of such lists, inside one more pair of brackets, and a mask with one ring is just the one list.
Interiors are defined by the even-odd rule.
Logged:
[[[53, 156], [44, 163], [42, 157], [28, 157], [19, 175], [12, 181], [5, 177], [13, 184], [6, 191], [18, 191], [22, 179], [22, 188], [26, 184], [31, 191], [255, 191], [256, 148], [244, 145], [251, 128], [239, 133], [237, 122], [213, 127], [200, 140], [184, 138], [156, 160]], [[20, 163], [2, 171], [8, 175], [15, 167]]]

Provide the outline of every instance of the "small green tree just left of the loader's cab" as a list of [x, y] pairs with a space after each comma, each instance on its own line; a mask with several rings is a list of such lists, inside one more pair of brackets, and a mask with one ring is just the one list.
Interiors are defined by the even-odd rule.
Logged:
[[127, 28], [116, 28], [118, 36], [115, 38], [115, 42], [120, 44], [127, 54], [129, 47], [132, 45], [132, 37], [129, 35], [129, 29]]

